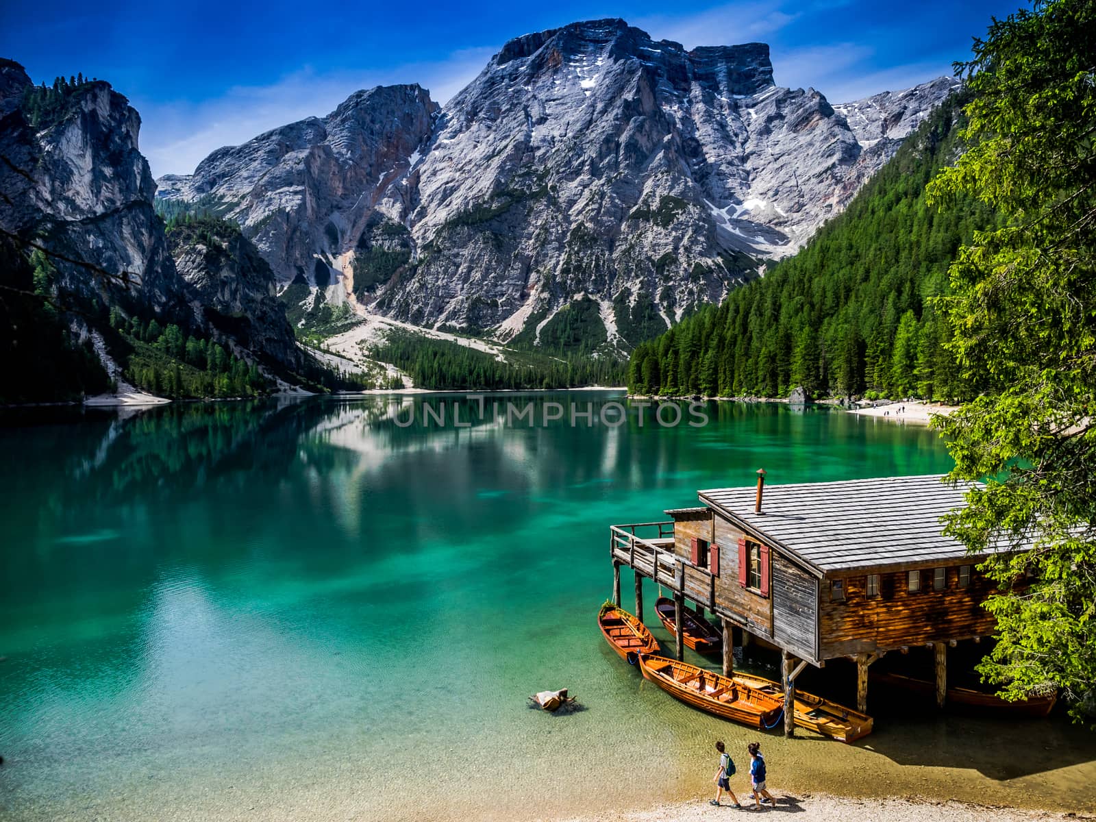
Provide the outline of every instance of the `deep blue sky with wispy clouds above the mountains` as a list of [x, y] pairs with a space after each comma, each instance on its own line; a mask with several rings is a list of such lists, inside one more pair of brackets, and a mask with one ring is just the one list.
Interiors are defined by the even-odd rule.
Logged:
[[575, 20], [620, 16], [686, 47], [765, 42], [778, 84], [837, 103], [951, 73], [990, 18], [1020, 4], [0, 0], [0, 56], [35, 81], [110, 80], [141, 113], [141, 150], [159, 175], [189, 173], [215, 148], [327, 114], [378, 83], [418, 82], [445, 102], [505, 41]]

